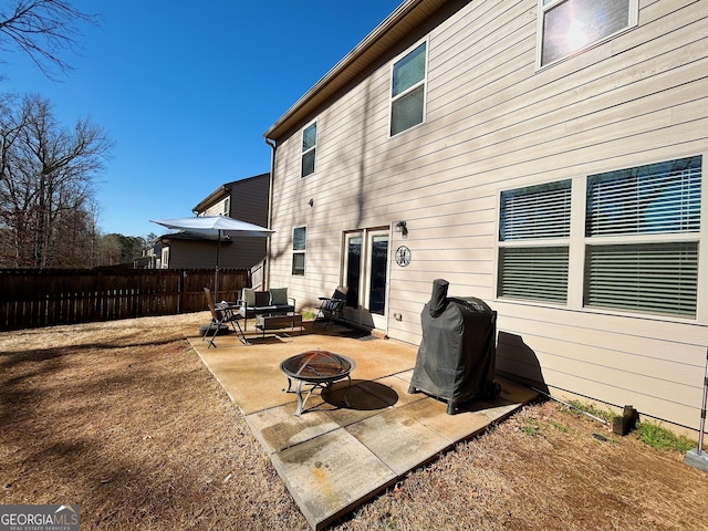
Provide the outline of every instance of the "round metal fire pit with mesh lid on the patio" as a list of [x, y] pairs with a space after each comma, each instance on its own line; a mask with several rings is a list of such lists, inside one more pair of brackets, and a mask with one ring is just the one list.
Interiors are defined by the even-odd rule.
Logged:
[[[285, 393], [296, 393], [298, 395], [298, 410], [295, 415], [299, 417], [302, 415], [308, 398], [312, 392], [316, 388], [329, 387], [340, 379], [348, 378], [350, 385], [352, 383], [352, 376], [350, 373], [354, 371], [356, 363], [342, 354], [334, 354], [329, 351], [308, 351], [302, 354], [289, 357], [280, 364], [280, 369], [288, 378], [288, 388], [283, 389]], [[296, 382], [295, 391], [292, 391], [292, 381]], [[305, 389], [308, 395], [302, 397], [302, 385], [309, 385], [310, 388]]]

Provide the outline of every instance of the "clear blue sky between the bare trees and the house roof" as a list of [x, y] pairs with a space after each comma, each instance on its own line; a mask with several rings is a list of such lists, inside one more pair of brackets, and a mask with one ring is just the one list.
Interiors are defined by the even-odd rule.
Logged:
[[223, 183], [266, 173], [263, 133], [402, 0], [74, 0], [74, 71], [48, 80], [20, 52], [0, 91], [49, 98], [60, 122], [88, 117], [114, 140], [98, 177], [102, 232], [162, 233]]

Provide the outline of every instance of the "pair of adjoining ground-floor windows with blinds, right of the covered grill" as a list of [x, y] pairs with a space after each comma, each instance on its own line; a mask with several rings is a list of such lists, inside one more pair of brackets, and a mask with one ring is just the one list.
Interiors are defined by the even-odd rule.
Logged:
[[502, 191], [498, 296], [695, 317], [701, 166], [694, 156]]

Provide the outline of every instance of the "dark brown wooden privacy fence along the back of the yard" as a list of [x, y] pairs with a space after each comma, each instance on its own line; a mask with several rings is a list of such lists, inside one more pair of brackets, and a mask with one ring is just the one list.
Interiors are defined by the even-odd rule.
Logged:
[[[251, 285], [246, 269], [220, 269], [217, 300]], [[86, 323], [207, 309], [214, 269], [0, 270], [0, 330]]]

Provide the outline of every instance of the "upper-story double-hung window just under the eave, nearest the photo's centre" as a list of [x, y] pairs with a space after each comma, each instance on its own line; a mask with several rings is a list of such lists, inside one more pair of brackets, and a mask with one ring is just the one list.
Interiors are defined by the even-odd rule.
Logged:
[[394, 63], [391, 82], [391, 136], [424, 121], [426, 64], [426, 42]]

